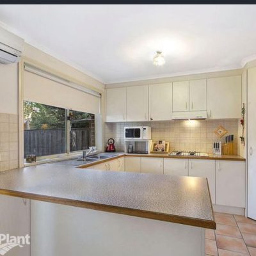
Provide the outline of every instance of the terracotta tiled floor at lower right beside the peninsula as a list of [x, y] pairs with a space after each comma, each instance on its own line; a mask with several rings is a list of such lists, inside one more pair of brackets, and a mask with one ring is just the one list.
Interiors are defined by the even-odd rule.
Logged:
[[256, 256], [256, 221], [214, 212], [216, 230], [205, 230], [205, 256]]

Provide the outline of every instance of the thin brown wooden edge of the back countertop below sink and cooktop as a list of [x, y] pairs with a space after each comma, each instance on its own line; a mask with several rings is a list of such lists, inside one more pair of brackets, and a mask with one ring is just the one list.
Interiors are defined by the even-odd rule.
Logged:
[[106, 163], [108, 161], [111, 161], [111, 160], [115, 160], [115, 159], [118, 159], [118, 158], [121, 158], [121, 157], [160, 157], [160, 158], [173, 158], [173, 159], [205, 159], [205, 160], [220, 160], [220, 161], [245, 161], [245, 158], [243, 157], [239, 157], [237, 156], [232, 158], [232, 157], [228, 157], [228, 156], [220, 156], [220, 157], [212, 157], [212, 156], [208, 156], [208, 157], [200, 157], [200, 156], [161, 156], [161, 154], [157, 154], [157, 155], [152, 155], [152, 154], [120, 154], [119, 156], [115, 156], [115, 157], [109, 157], [107, 159], [102, 159], [102, 160], [99, 160], [99, 161], [95, 161], [95, 162], [92, 162], [92, 163], [89, 163], [89, 164], [84, 164], [84, 165], [81, 165], [81, 166], [77, 166], [77, 168], [88, 168], [90, 166], [94, 166], [94, 165], [97, 165], [97, 164], [101, 164], [101, 163]]

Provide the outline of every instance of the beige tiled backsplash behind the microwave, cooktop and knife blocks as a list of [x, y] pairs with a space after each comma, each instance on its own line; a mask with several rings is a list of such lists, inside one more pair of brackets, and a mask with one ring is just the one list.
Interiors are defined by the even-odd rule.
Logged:
[[104, 143], [106, 145], [108, 138], [114, 138], [116, 150], [124, 151], [124, 127], [147, 125], [152, 127], [152, 141], [165, 140], [170, 142], [170, 151], [196, 150], [212, 153], [212, 143], [218, 139], [214, 131], [219, 125], [222, 125], [228, 131], [226, 135], [234, 134], [234, 153], [239, 154], [237, 151], [238, 122], [239, 120], [175, 120], [166, 122], [105, 123]]

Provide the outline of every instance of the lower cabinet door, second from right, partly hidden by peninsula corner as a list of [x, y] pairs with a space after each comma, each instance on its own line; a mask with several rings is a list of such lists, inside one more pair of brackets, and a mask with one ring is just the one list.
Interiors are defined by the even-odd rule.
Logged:
[[212, 204], [215, 204], [215, 161], [189, 159], [189, 176], [207, 178]]

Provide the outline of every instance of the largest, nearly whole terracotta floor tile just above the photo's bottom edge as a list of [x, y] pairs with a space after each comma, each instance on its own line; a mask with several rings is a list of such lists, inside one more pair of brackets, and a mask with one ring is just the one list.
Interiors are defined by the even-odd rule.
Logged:
[[229, 236], [216, 235], [217, 246], [220, 249], [239, 253], [248, 253], [243, 239]]

